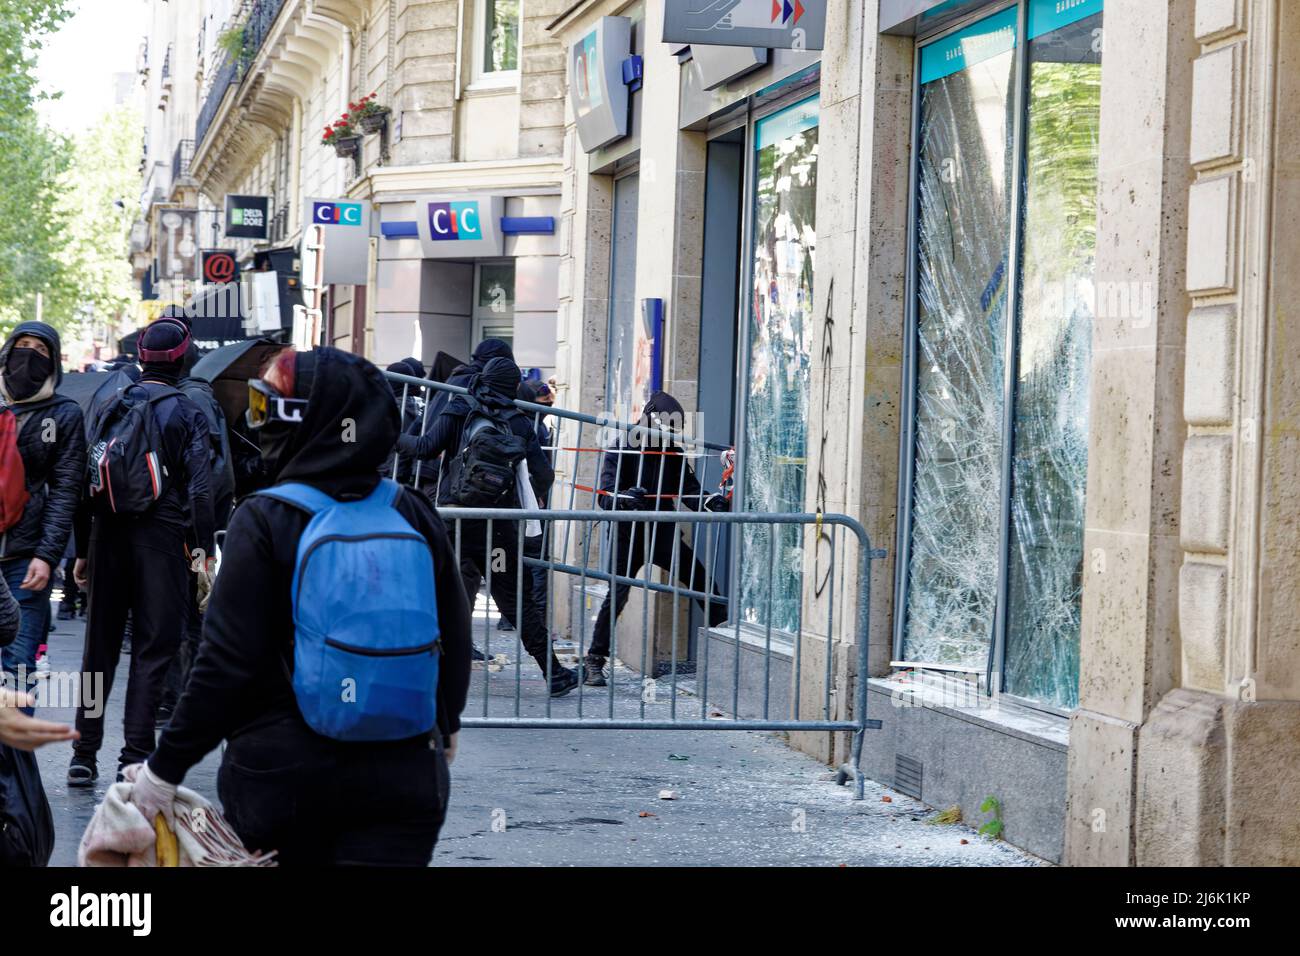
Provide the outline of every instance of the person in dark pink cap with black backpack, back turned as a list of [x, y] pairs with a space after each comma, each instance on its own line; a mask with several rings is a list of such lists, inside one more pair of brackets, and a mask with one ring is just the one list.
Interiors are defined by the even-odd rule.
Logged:
[[[104, 675], [104, 700], [77, 711], [81, 740], [69, 787], [88, 787], [104, 740], [104, 709], [131, 615], [122, 770], [153, 750], [168, 667], [188, 619], [190, 578], [212, 563], [211, 438], [203, 411], [177, 384], [190, 343], [185, 324], [159, 319], [139, 338], [143, 373], [125, 388], [90, 449], [90, 507], [78, 522], [74, 572], [90, 589], [82, 671]], [[188, 540], [187, 540], [188, 538]]]

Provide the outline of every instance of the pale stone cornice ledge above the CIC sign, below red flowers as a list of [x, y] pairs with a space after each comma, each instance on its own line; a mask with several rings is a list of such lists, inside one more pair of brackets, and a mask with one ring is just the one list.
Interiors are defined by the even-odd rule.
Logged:
[[558, 156], [377, 166], [352, 183], [348, 198], [402, 202], [445, 191], [558, 194], [563, 174], [564, 161]]

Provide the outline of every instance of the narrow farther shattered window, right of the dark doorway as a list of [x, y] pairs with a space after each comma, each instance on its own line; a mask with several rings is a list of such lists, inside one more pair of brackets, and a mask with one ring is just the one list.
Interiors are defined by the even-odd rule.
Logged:
[[[754, 259], [749, 308], [745, 509], [803, 510], [816, 248], [818, 100], [757, 129]], [[744, 531], [741, 620], [798, 631], [802, 536], [796, 525]], [[768, 562], [776, 536], [775, 567]], [[771, 604], [768, 604], [771, 601]]]

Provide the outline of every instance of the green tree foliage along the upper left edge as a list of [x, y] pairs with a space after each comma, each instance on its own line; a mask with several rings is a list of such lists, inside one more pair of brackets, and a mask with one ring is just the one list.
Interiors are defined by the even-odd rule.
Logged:
[[66, 0], [0, 0], [0, 330], [62, 281], [56, 203], [69, 150], [36, 116], [35, 68], [68, 16]]

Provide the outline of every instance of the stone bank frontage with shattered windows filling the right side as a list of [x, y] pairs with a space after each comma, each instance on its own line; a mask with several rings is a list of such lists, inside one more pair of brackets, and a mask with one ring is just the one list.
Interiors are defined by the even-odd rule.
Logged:
[[805, 3], [815, 49], [685, 43], [686, 7], [547, 23], [560, 403], [634, 418], [662, 385], [736, 446], [745, 510], [844, 512], [888, 549], [867, 675], [812, 623], [815, 541], [775, 542], [772, 593], [728, 581], [733, 620], [770, 601], [832, 657], [836, 706], [870, 682], [868, 775], [1053, 861], [1300, 860], [1295, 12]]

